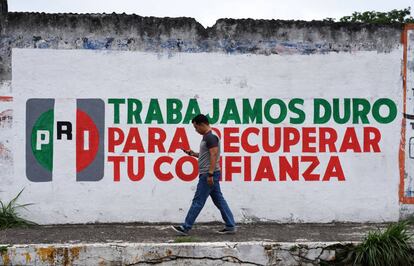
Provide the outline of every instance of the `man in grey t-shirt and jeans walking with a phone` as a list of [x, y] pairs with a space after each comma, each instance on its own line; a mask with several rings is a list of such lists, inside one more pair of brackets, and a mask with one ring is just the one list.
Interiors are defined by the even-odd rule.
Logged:
[[172, 226], [180, 235], [188, 235], [198, 214], [203, 209], [208, 196], [211, 196], [214, 205], [220, 210], [226, 226], [218, 231], [220, 234], [234, 234], [236, 225], [233, 214], [220, 190], [220, 139], [213, 134], [208, 118], [199, 114], [191, 121], [197, 133], [203, 136], [200, 144], [200, 152], [185, 151], [190, 156], [198, 158], [198, 184], [193, 202], [188, 210], [185, 222], [180, 226]]

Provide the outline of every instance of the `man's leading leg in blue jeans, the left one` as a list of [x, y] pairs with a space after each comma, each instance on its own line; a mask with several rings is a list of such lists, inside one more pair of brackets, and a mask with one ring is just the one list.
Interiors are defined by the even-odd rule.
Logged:
[[200, 175], [197, 184], [197, 190], [193, 198], [190, 209], [188, 210], [187, 217], [183, 227], [186, 231], [190, 230], [193, 227], [197, 216], [200, 214], [201, 209], [203, 209], [204, 204], [210, 194], [211, 188], [207, 184], [207, 176]]

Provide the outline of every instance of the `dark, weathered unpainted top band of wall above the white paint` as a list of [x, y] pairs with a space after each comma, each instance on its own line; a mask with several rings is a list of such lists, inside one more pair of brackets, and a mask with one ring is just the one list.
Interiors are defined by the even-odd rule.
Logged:
[[387, 52], [400, 39], [401, 25], [220, 19], [205, 29], [192, 18], [10, 12], [0, 77], [11, 79], [11, 48], [315, 54]]

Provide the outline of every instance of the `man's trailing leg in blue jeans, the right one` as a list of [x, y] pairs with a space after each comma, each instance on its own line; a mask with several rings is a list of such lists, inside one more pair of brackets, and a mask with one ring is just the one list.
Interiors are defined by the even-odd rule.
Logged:
[[226, 200], [223, 197], [220, 189], [220, 172], [214, 173], [214, 186], [210, 193], [211, 199], [214, 202], [214, 205], [220, 210], [221, 217], [223, 218], [224, 222], [226, 223], [226, 229], [234, 230], [236, 224], [234, 222], [233, 214], [230, 210], [229, 205], [227, 204]]

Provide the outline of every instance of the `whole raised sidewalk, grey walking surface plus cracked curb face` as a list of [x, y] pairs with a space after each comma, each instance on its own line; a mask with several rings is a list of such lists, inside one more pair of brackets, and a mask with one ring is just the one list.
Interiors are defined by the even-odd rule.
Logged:
[[219, 235], [222, 225], [197, 224], [185, 238], [167, 224], [37, 226], [0, 231], [0, 264], [318, 265], [386, 226], [259, 223]]

